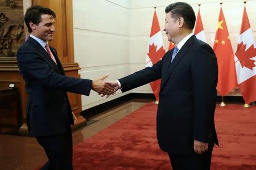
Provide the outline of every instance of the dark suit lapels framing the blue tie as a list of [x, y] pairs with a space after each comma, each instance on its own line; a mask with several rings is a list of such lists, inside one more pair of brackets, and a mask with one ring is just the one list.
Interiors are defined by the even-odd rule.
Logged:
[[172, 63], [171, 63], [172, 53], [174, 53], [174, 49], [172, 49], [172, 53], [170, 53], [170, 55], [167, 57], [166, 63], [164, 64], [164, 67], [163, 67], [163, 69], [166, 71], [164, 71], [163, 76], [162, 76], [162, 83], [161, 83], [160, 90], [163, 88], [164, 84], [166, 84], [168, 78], [171, 76], [172, 71], [174, 71], [177, 64], [188, 52], [189, 46], [192, 44], [192, 42], [195, 40], [195, 38], [196, 38], [195, 35], [193, 35], [192, 37], [190, 37], [187, 40], [187, 42], [185, 42], [185, 44], [181, 47], [181, 49], [175, 56], [174, 61], [172, 61]]

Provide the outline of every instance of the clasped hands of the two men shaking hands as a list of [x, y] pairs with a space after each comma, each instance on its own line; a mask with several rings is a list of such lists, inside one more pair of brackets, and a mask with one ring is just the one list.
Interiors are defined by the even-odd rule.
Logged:
[[92, 90], [96, 91], [101, 97], [109, 97], [110, 95], [114, 95], [115, 91], [119, 89], [117, 80], [104, 82], [109, 74], [102, 76], [99, 79], [93, 80], [92, 82]]

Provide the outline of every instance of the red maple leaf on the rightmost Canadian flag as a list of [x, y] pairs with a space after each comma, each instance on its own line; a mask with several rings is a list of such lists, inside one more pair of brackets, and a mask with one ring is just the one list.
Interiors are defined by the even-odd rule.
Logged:
[[246, 44], [243, 45], [243, 42], [241, 42], [241, 44], [238, 44], [237, 52], [235, 54], [242, 67], [247, 67], [248, 69], [253, 70], [253, 67], [256, 65], [254, 64], [255, 60], [251, 58], [256, 56], [256, 48], [254, 48], [254, 45], [251, 45], [247, 50], [245, 50], [245, 48]]

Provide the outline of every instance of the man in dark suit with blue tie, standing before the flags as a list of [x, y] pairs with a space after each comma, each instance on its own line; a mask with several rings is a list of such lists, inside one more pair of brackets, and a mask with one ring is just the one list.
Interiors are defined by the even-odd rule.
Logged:
[[[192, 30], [195, 12], [187, 3], [166, 7], [164, 31], [177, 46], [152, 67], [106, 82], [122, 92], [162, 79], [157, 113], [160, 148], [176, 169], [210, 169], [214, 143], [217, 59], [212, 48]], [[102, 95], [104, 96], [104, 95]]]

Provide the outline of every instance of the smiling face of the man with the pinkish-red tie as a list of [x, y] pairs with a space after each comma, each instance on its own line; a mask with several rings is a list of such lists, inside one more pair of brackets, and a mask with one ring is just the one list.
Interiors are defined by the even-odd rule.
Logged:
[[32, 28], [32, 35], [42, 39], [44, 41], [53, 40], [53, 32], [55, 20], [52, 15], [43, 14], [41, 15], [41, 22], [38, 24], [30, 23]]

